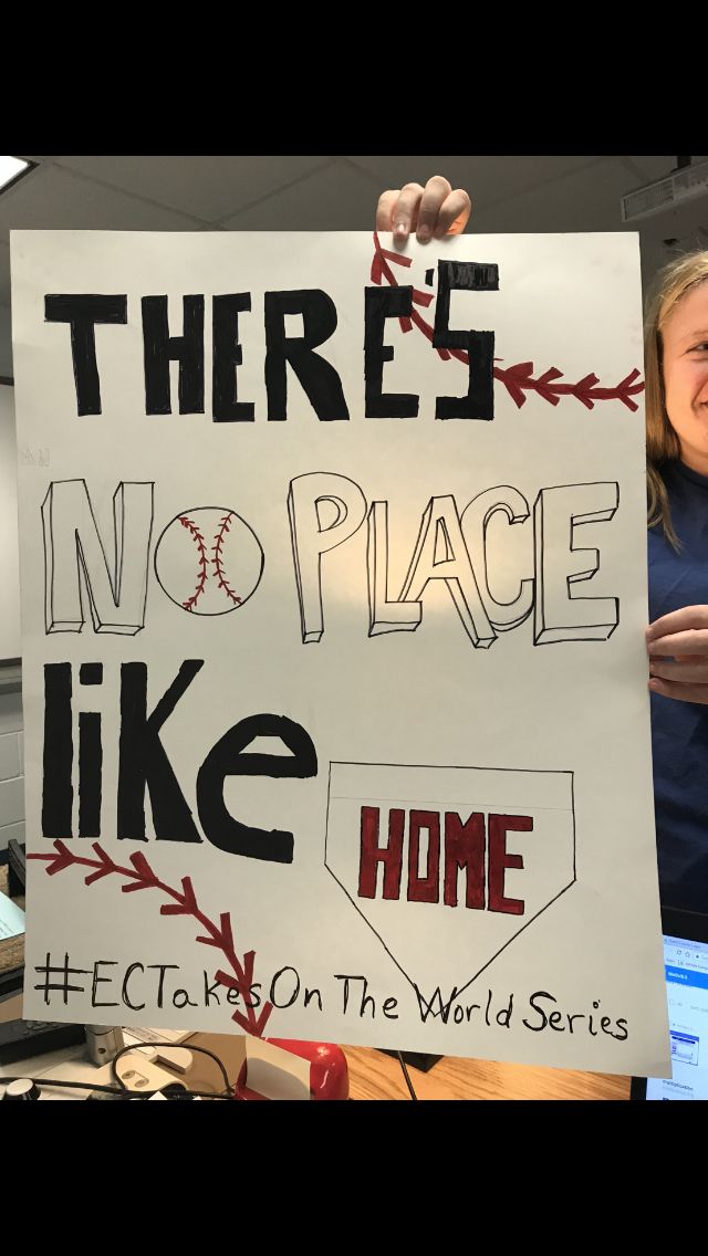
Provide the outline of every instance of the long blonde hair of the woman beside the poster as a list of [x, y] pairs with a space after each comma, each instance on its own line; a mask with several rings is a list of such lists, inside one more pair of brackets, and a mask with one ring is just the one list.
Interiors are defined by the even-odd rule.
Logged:
[[646, 522], [661, 524], [675, 550], [679, 539], [672, 522], [669, 496], [663, 470], [680, 456], [680, 442], [669, 422], [664, 394], [663, 338], [667, 319], [685, 294], [708, 280], [708, 251], [689, 252], [664, 266], [655, 280], [654, 295], [644, 322], [645, 402], [646, 402]]

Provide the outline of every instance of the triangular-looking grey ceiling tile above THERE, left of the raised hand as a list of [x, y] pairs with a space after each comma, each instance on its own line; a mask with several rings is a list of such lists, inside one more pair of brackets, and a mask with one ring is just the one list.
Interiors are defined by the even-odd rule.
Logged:
[[59, 157], [87, 178], [216, 222], [303, 178], [331, 157]]

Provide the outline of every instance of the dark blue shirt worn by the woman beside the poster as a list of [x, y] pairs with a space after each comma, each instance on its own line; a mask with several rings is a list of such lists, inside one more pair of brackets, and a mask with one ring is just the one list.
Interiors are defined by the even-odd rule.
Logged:
[[[673, 549], [649, 530], [649, 615], [708, 604], [708, 476], [675, 461], [663, 468]], [[661, 902], [708, 912], [708, 706], [651, 695], [654, 799]]]

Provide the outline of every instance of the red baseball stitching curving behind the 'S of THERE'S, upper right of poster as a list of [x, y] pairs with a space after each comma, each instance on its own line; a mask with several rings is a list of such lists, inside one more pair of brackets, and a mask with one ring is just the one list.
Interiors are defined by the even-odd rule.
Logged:
[[[389, 249], [382, 249], [379, 232], [373, 232], [373, 261], [371, 263], [371, 283], [381, 284], [382, 279], [386, 279], [391, 288], [397, 288], [399, 283], [389, 263], [395, 263], [397, 266], [410, 266], [411, 257], [404, 257], [401, 254], [391, 252]], [[430, 305], [433, 300], [431, 293], [421, 293], [418, 288], [412, 290], [414, 305]], [[410, 332], [411, 325], [423, 332], [423, 334], [433, 340], [433, 328], [430, 323], [418, 313], [418, 310], [411, 310], [410, 315], [402, 315], [399, 318], [399, 324], [401, 332]], [[469, 358], [464, 349], [436, 349], [444, 362], [449, 358], [456, 358], [458, 362], [468, 363]], [[503, 358], [495, 358], [495, 362], [502, 362]], [[576, 397], [577, 401], [582, 402], [587, 409], [592, 409], [596, 401], [621, 401], [628, 409], [639, 409], [639, 406], [633, 397], [636, 393], [644, 392], [644, 381], [639, 379], [639, 371], [635, 368], [630, 371], [629, 376], [625, 376], [619, 384], [614, 388], [596, 388], [595, 386], [600, 382], [597, 376], [590, 372], [578, 379], [577, 383], [557, 383], [556, 381], [562, 379], [562, 371], [556, 367], [550, 367], [547, 371], [539, 376], [538, 379], [533, 379], [533, 363], [532, 362], [517, 362], [513, 367], [494, 367], [493, 374], [495, 379], [499, 379], [504, 384], [504, 388], [509, 393], [509, 397], [516, 402], [518, 408], [526, 402], [526, 392], [536, 392], [543, 401], [551, 403], [551, 406], [557, 406], [558, 401], [563, 396]]]

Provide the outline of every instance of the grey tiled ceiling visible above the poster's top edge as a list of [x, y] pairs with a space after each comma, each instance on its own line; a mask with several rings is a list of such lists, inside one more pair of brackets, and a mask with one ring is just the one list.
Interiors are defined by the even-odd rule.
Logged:
[[[368, 230], [380, 191], [443, 173], [472, 195], [470, 231], [620, 231], [621, 195], [677, 165], [675, 157], [616, 156], [29, 160], [36, 170], [0, 195], [0, 342], [9, 339], [13, 229]], [[700, 212], [708, 232], [708, 212]], [[668, 216], [640, 227], [648, 278], [664, 260], [661, 240], [682, 232]], [[9, 352], [0, 343], [0, 374]]]

